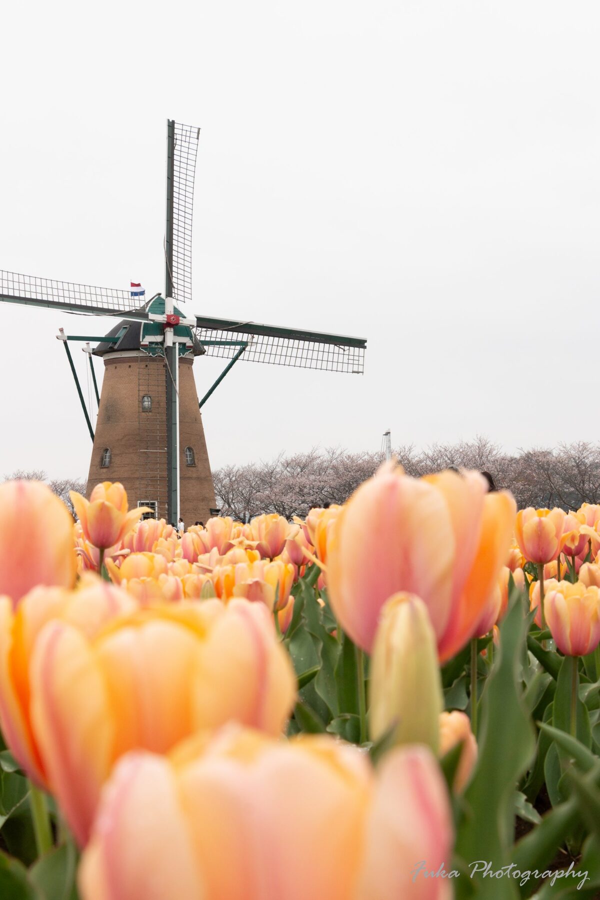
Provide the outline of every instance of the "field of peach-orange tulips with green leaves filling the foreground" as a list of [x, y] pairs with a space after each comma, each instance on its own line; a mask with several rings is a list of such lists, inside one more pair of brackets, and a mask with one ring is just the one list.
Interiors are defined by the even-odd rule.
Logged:
[[600, 505], [0, 485], [0, 900], [600, 896]]

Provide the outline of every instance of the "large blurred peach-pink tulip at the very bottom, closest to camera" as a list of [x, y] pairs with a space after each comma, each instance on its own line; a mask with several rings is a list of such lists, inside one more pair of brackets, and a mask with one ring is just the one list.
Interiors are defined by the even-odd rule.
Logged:
[[79, 889], [82, 900], [442, 900], [443, 879], [410, 873], [451, 852], [446, 788], [425, 747], [390, 752], [373, 773], [329, 737], [279, 743], [230, 727], [169, 758], [120, 762]]

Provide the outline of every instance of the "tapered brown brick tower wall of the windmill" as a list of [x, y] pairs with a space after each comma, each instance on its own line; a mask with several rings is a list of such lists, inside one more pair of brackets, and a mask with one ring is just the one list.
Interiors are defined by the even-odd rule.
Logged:
[[[130, 509], [140, 500], [157, 500], [157, 517], [167, 515], [166, 370], [162, 356], [143, 352], [106, 354], [87, 497], [100, 482], [121, 482]], [[179, 360], [180, 510], [185, 526], [210, 518], [215, 506], [209, 455], [193, 380], [193, 360]], [[151, 409], [142, 409], [142, 398]], [[186, 464], [185, 447], [193, 450]], [[111, 451], [108, 467], [103, 451]]]

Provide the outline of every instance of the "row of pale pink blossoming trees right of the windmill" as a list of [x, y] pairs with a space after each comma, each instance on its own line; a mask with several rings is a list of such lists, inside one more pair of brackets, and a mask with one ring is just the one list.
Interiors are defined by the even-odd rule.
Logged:
[[[520, 508], [578, 509], [600, 500], [600, 445], [583, 441], [511, 455], [479, 437], [422, 451], [400, 446], [394, 455], [416, 477], [448, 466], [487, 471]], [[382, 461], [379, 453], [313, 449], [268, 463], [223, 466], [213, 473], [218, 506], [223, 515], [244, 522], [262, 512], [305, 516], [311, 507], [344, 503]]]

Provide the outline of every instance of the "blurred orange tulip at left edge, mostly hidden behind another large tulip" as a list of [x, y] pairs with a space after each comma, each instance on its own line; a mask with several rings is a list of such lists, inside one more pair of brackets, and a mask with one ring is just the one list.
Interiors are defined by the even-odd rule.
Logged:
[[43, 627], [54, 618], [93, 637], [113, 618], [134, 612], [136, 601], [91, 573], [76, 590], [35, 588], [13, 612], [0, 599], [0, 722], [14, 758], [38, 785], [47, 787], [46, 770], [31, 727], [31, 653]]

